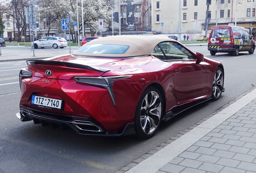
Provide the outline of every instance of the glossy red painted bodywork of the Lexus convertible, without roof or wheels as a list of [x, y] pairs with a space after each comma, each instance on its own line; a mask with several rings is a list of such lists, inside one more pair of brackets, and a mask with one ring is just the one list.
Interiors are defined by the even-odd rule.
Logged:
[[[138, 99], [148, 85], [155, 83], [163, 88], [166, 103], [165, 112], [171, 111], [179, 105], [195, 101], [194, 99], [197, 97], [210, 97], [214, 69], [219, 65], [216, 61], [208, 58], [205, 58], [204, 62], [200, 64], [195, 64], [196, 60], [180, 61], [179, 63], [163, 62], [152, 56], [104, 58], [104, 61], [97, 58], [97, 63], [94, 63], [94, 59], [93, 57], [83, 58], [68, 55], [51, 60], [78, 64], [87, 64], [88, 62], [92, 67], [110, 68], [111, 71], [103, 73], [54, 64], [29, 64], [27, 70], [33, 71], [33, 77], [22, 80], [20, 105], [33, 108], [31, 95], [62, 99], [64, 101], [64, 110], [61, 111], [63, 115], [89, 117], [107, 131], [122, 131], [127, 123], [134, 121]], [[190, 65], [184, 66], [187, 63]], [[156, 66], [160, 68], [156, 68]], [[45, 70], [52, 70], [53, 75], [51, 77], [46, 76]], [[191, 72], [193, 73], [192, 76]], [[73, 79], [74, 76], [96, 77], [116, 76], [117, 74], [133, 75], [113, 83], [116, 106], [113, 105], [106, 89], [81, 84]], [[190, 75], [188, 76], [188, 74]], [[175, 83], [173, 78], [179, 82]], [[200, 81], [199, 85], [193, 84], [193, 81], [198, 80]], [[186, 87], [182, 81], [189, 81], [191, 87]], [[183, 95], [188, 97], [183, 97]], [[37, 109], [45, 111], [44, 108], [38, 107]], [[54, 110], [51, 112], [59, 113], [59, 111]]]

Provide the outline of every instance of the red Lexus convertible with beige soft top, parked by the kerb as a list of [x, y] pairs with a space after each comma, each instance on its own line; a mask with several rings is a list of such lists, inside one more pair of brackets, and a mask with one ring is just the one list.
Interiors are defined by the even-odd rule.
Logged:
[[27, 60], [17, 117], [84, 135], [140, 138], [224, 92], [220, 62], [157, 36], [109, 36], [73, 54]]

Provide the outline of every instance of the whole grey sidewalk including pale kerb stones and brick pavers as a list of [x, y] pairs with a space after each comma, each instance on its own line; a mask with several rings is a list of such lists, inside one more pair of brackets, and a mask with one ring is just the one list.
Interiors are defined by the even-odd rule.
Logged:
[[256, 89], [127, 173], [256, 173]]

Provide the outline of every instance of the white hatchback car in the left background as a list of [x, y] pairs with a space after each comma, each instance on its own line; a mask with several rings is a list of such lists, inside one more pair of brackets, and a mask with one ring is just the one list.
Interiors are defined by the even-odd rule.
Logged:
[[[31, 42], [31, 46], [33, 47], [33, 42]], [[47, 36], [43, 37], [37, 41], [34, 41], [35, 48], [45, 48], [45, 47], [53, 47], [53, 48], [64, 48], [68, 46], [67, 40], [64, 37], [56, 37], [56, 36]]]

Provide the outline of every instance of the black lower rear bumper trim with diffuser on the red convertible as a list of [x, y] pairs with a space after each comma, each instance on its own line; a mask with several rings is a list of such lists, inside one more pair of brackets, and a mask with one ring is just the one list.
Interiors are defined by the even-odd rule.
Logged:
[[62, 127], [63, 130], [68, 130], [71, 127], [81, 135], [126, 136], [135, 134], [134, 123], [128, 123], [122, 132], [106, 131], [98, 123], [87, 117], [46, 113], [24, 106], [21, 106], [20, 110], [16, 116], [21, 121], [33, 120], [35, 124], [51, 125], [53, 129]]

